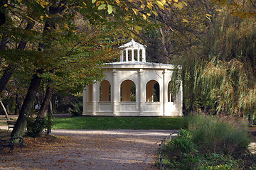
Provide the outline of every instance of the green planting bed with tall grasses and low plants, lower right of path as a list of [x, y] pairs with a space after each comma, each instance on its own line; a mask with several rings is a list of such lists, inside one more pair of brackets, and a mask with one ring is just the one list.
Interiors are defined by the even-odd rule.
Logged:
[[190, 116], [188, 130], [162, 148], [169, 169], [256, 169], [246, 127], [235, 120]]

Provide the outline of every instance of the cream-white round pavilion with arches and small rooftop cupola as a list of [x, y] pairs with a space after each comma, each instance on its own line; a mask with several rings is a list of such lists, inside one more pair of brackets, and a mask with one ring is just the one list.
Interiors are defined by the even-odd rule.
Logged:
[[171, 95], [174, 65], [146, 62], [145, 45], [119, 47], [120, 62], [105, 64], [105, 79], [86, 86], [82, 115], [181, 116], [182, 88]]

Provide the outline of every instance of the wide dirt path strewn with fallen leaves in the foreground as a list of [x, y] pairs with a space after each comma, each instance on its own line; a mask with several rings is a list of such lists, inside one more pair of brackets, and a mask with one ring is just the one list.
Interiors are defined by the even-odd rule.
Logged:
[[[174, 130], [53, 130], [57, 140], [27, 141], [0, 169], [157, 169], [159, 142]], [[32, 142], [32, 144], [31, 144]], [[31, 144], [31, 145], [29, 145]]]

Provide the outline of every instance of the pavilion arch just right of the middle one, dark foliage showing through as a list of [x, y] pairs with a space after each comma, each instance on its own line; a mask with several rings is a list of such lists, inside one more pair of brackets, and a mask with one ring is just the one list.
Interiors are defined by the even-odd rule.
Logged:
[[146, 102], [159, 102], [160, 90], [159, 83], [151, 80], [146, 84]]

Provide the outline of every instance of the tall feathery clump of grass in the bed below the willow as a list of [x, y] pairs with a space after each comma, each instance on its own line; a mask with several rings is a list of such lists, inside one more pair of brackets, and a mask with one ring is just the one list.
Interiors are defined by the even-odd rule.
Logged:
[[188, 131], [191, 132], [191, 140], [208, 152], [242, 156], [250, 144], [245, 125], [226, 118], [190, 116]]

